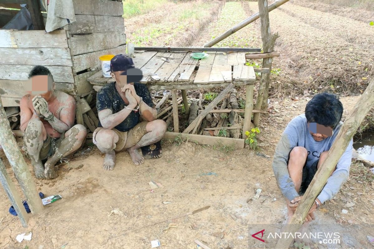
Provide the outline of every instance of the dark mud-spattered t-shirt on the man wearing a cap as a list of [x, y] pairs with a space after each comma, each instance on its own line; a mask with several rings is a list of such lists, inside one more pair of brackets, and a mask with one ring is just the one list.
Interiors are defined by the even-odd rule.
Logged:
[[[109, 83], [102, 87], [97, 93], [96, 108], [98, 112], [104, 109], [111, 109], [114, 114], [121, 111], [123, 108], [125, 108], [125, 106], [127, 106], [122, 97], [119, 95], [115, 84], [115, 82]], [[134, 88], [138, 96], [143, 98], [144, 103], [152, 108], [155, 107], [151, 98], [151, 93], [149, 92], [146, 85], [135, 82]], [[139, 123], [139, 117], [139, 112], [132, 111], [127, 116], [127, 118], [122, 121], [122, 123], [114, 128], [119, 131], [129, 131]], [[100, 121], [98, 127], [102, 127]]]

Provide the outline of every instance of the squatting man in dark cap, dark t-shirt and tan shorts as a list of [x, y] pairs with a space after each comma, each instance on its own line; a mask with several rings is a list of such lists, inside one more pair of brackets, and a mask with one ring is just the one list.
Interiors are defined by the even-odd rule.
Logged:
[[147, 86], [136, 82], [142, 78], [140, 69], [135, 68], [130, 57], [116, 55], [110, 61], [109, 71], [115, 82], [97, 93], [99, 125], [92, 136], [93, 143], [105, 153], [104, 169], [113, 170], [116, 151], [127, 150], [135, 165], [142, 164], [144, 157], [160, 157], [159, 141], [165, 134], [166, 123], [156, 120], [157, 111]]

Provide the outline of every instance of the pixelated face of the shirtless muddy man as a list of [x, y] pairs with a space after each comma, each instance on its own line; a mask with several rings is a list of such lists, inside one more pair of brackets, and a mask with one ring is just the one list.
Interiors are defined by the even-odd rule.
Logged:
[[55, 83], [49, 75], [35, 75], [27, 81], [26, 88], [27, 93], [32, 96], [39, 95], [48, 101], [52, 97]]

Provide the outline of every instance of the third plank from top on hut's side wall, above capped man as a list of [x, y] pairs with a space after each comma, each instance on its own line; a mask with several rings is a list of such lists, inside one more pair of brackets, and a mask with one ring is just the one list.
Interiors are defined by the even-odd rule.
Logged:
[[72, 55], [80, 55], [126, 44], [126, 34], [111, 31], [87, 35], [71, 35], [69, 43]]

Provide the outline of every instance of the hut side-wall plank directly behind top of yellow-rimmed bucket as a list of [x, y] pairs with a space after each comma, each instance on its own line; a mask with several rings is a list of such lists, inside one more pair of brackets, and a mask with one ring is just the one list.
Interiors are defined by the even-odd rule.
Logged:
[[119, 46], [113, 49], [105, 49], [83, 55], [73, 56], [73, 70], [74, 73], [83, 71], [85, 69], [91, 69], [94, 71], [101, 68], [99, 57], [102, 55], [118, 55], [126, 52], [126, 46]]

